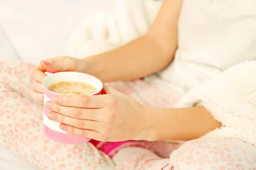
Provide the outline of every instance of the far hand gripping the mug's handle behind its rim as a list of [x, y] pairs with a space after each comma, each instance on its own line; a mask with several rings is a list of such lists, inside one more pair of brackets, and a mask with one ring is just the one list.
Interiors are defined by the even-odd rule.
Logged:
[[44, 100], [42, 81], [44, 77], [47, 76], [47, 74], [44, 74], [45, 71], [52, 73], [61, 71], [85, 72], [85, 62], [83, 62], [82, 59], [67, 56], [60, 56], [41, 61], [40, 64], [31, 71], [31, 88], [29, 89], [29, 96], [40, 102]]

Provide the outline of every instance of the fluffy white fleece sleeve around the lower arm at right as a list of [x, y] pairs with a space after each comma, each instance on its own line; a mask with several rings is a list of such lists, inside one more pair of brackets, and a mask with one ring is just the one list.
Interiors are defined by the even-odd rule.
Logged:
[[202, 138], [238, 139], [256, 146], [256, 61], [235, 65], [191, 89], [178, 108], [203, 106], [222, 127]]

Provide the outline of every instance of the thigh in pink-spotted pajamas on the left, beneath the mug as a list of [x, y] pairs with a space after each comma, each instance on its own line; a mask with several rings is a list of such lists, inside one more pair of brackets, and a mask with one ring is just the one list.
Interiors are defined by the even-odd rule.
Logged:
[[89, 170], [108, 161], [90, 143], [57, 144], [44, 136], [43, 104], [28, 96], [34, 66], [0, 60], [0, 144], [42, 170]]

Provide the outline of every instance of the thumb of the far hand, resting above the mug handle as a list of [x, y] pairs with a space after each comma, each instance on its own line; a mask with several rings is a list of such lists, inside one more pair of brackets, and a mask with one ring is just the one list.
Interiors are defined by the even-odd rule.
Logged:
[[68, 65], [66, 62], [48, 62], [42, 60], [40, 62], [42, 67], [49, 72], [56, 73], [61, 71], [69, 71], [70, 65]]

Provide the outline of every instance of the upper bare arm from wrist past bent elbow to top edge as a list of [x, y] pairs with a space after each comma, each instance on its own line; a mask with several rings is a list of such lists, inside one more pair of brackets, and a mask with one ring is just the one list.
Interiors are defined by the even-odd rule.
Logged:
[[145, 36], [103, 54], [85, 58], [85, 72], [103, 82], [145, 77], [165, 68], [177, 48], [177, 22], [182, 0], [165, 0]]

